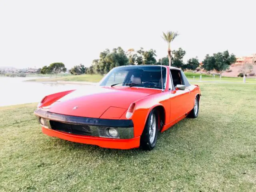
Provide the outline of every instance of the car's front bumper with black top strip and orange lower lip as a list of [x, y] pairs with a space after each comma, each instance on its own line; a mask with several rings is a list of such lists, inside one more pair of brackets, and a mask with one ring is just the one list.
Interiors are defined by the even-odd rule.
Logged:
[[[140, 146], [140, 137], [134, 138], [132, 120], [112, 120], [86, 118], [47, 112], [34, 111], [42, 126], [42, 132], [72, 142], [98, 145], [105, 148], [130, 149]], [[116, 137], [108, 134], [108, 129], [118, 131]]]

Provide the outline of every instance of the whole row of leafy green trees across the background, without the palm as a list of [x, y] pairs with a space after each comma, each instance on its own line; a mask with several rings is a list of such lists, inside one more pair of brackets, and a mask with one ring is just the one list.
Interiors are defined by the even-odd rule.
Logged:
[[[112, 51], [106, 49], [100, 52], [99, 58], [92, 61], [90, 67], [85, 67], [83, 64], [72, 67], [69, 72], [73, 75], [80, 74], [106, 74], [112, 68], [124, 65], [165, 65], [181, 68], [182, 70], [196, 70], [200, 66], [198, 58], [190, 58], [186, 63], [183, 58], [186, 51], [182, 48], [172, 51], [172, 56], [163, 57], [156, 60], [156, 50], [134, 50], [133, 48], [125, 52], [121, 47], [114, 48]], [[229, 54], [228, 50], [224, 52], [214, 53], [212, 56], [207, 54], [202, 61], [202, 68], [207, 71], [216, 70], [222, 74], [223, 70], [229, 68], [229, 66], [236, 61], [234, 54]], [[170, 64], [171, 63], [171, 64]], [[52, 63], [49, 66], [44, 66], [42, 69], [38, 69], [41, 74], [57, 74], [60, 72], [66, 72], [65, 65], [63, 63]]]

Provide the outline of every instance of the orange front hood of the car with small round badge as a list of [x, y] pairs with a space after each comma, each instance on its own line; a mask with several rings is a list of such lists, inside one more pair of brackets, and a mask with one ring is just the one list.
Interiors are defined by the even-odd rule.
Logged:
[[136, 87], [92, 86], [90, 89], [70, 92], [44, 109], [71, 116], [100, 118], [104, 114], [102, 118], [119, 118], [132, 102], [159, 91]]

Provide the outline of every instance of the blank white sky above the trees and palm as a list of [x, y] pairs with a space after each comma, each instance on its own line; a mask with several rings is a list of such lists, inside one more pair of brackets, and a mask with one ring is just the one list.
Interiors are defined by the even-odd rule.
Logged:
[[90, 66], [106, 48], [167, 55], [162, 31], [180, 33], [184, 61], [229, 50], [256, 53], [256, 0], [0, 0], [0, 66]]

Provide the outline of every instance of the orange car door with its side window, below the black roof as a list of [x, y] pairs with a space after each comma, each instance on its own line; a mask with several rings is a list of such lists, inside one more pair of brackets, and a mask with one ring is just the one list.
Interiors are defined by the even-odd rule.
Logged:
[[170, 122], [180, 118], [188, 111], [188, 100], [190, 98], [189, 87], [185, 90], [175, 90], [177, 84], [184, 85], [181, 71], [171, 69], [170, 75], [172, 79], [172, 89], [170, 90]]

